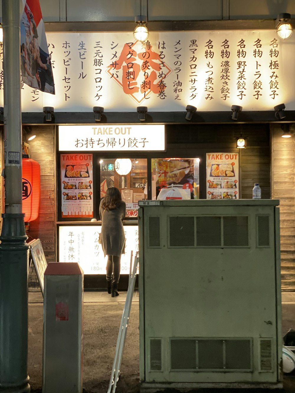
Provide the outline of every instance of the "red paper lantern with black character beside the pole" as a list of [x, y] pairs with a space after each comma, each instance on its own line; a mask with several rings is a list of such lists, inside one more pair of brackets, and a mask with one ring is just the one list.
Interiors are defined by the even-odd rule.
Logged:
[[22, 159], [22, 212], [25, 222], [37, 219], [40, 200], [40, 165], [31, 158]]

